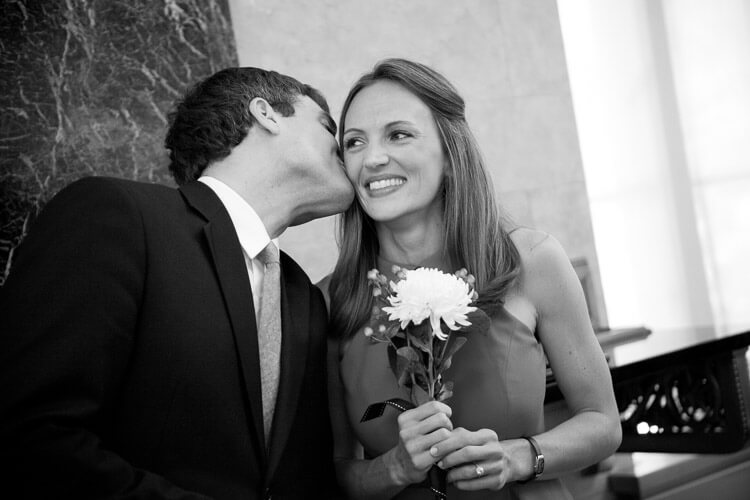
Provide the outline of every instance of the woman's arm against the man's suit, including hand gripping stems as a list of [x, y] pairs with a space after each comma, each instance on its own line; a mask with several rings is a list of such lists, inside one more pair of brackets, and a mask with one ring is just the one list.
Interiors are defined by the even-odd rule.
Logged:
[[449, 436], [453, 428], [451, 409], [443, 403], [430, 402], [401, 413], [398, 445], [367, 460], [349, 426], [338, 353], [338, 341], [329, 340], [328, 397], [336, 476], [351, 498], [391, 498], [409, 484], [424, 480], [438, 460], [439, 457], [430, 454], [430, 449]]

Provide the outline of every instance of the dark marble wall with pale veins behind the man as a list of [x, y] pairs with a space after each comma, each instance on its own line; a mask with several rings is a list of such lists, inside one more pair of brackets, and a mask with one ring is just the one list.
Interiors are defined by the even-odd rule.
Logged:
[[226, 0], [4, 1], [0, 279], [35, 215], [71, 181], [171, 183], [172, 103], [236, 64]]

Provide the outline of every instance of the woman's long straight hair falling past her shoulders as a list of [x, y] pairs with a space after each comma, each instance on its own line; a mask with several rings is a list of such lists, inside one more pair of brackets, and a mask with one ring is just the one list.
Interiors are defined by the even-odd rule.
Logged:
[[[444, 248], [450, 262], [474, 275], [477, 305], [492, 314], [520, 272], [520, 257], [503, 228], [492, 181], [466, 123], [464, 101], [453, 85], [423, 64], [405, 59], [381, 61], [349, 91], [341, 111], [339, 141], [343, 142], [346, 113], [354, 97], [383, 80], [409, 90], [432, 111], [448, 157], [443, 186]], [[342, 337], [356, 332], [372, 313], [367, 272], [377, 267], [379, 246], [375, 223], [357, 198], [338, 222], [339, 259], [329, 290], [333, 333]]]

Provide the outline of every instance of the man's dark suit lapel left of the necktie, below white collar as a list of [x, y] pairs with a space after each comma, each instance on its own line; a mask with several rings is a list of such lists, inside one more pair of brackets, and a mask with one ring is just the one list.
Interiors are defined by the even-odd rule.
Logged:
[[[206, 218], [203, 231], [221, 286], [237, 348], [246, 396], [249, 400], [251, 433], [259, 464], [265, 463], [265, 438], [258, 355], [258, 332], [247, 268], [237, 233], [224, 205], [206, 185], [192, 182], [180, 191]], [[283, 368], [282, 368], [283, 369]]]

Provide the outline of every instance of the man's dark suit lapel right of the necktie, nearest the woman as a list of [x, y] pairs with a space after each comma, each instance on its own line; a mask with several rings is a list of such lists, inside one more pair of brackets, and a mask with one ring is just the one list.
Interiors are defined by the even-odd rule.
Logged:
[[[286, 265], [285, 265], [286, 263]], [[276, 397], [268, 476], [270, 480], [279, 464], [291, 432], [300, 398], [307, 364], [309, 343], [310, 290], [290, 258], [281, 254], [281, 380]], [[310, 429], [315, 432], [315, 429]]]

